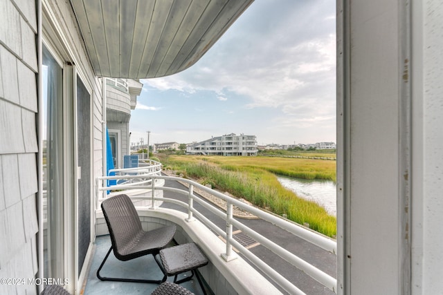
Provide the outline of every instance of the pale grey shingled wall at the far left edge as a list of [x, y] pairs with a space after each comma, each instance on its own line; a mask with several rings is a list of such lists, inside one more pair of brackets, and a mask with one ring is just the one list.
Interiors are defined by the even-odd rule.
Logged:
[[[37, 13], [0, 1], [0, 278], [37, 274]], [[13, 275], [12, 275], [13, 274]], [[0, 284], [0, 294], [35, 294]]]

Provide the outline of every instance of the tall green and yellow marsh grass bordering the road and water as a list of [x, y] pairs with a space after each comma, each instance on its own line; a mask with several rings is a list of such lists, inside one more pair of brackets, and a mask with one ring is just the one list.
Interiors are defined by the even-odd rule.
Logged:
[[[211, 184], [258, 207], [326, 236], [336, 235], [336, 218], [316, 202], [296, 196], [282, 187], [275, 174], [307, 179], [335, 180], [335, 162], [267, 157], [203, 157], [170, 155], [161, 159], [166, 169], [180, 171], [202, 184]], [[329, 163], [331, 162], [331, 163]]]

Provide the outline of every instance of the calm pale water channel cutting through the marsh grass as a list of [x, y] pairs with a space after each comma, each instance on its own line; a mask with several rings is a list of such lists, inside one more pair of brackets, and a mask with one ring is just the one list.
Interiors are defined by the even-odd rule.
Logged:
[[305, 180], [278, 176], [283, 187], [294, 191], [300, 198], [312, 200], [336, 216], [336, 186], [330, 180]]

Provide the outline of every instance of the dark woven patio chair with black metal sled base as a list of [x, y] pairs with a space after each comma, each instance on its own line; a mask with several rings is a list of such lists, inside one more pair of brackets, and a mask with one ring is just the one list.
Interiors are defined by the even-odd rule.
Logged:
[[126, 195], [111, 197], [102, 202], [102, 211], [111, 236], [111, 248], [103, 259], [97, 270], [97, 277], [100, 280], [112, 280], [119, 282], [135, 283], [161, 283], [161, 280], [142, 280], [134, 278], [107, 278], [100, 276], [100, 270], [111, 253], [118, 260], [127, 261], [148, 254], [154, 256], [154, 260], [163, 272], [163, 268], [156, 255], [174, 238], [175, 225], [160, 227], [151, 231], [144, 231], [138, 213]]

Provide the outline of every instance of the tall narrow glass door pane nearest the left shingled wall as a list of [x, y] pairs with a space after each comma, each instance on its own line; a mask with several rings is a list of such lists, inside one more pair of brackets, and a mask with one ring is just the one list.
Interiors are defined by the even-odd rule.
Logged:
[[63, 69], [43, 48], [44, 277], [63, 278]]

